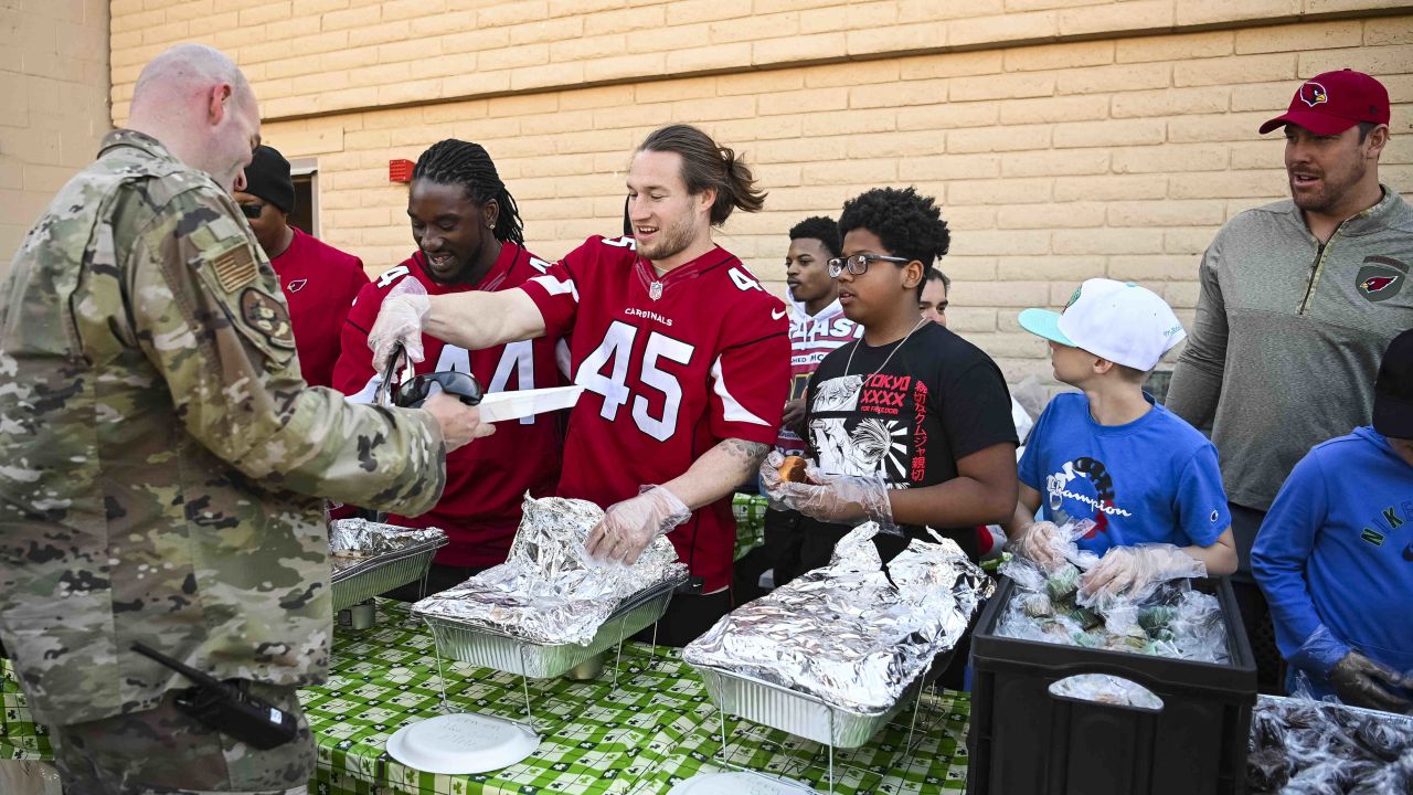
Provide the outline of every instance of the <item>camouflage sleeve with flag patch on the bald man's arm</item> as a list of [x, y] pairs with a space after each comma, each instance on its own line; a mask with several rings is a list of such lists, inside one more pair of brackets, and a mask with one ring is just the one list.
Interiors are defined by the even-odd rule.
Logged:
[[129, 259], [140, 344], [188, 433], [267, 488], [431, 509], [447, 481], [439, 426], [305, 385], [280, 283], [237, 216], [215, 190], [177, 194]]

